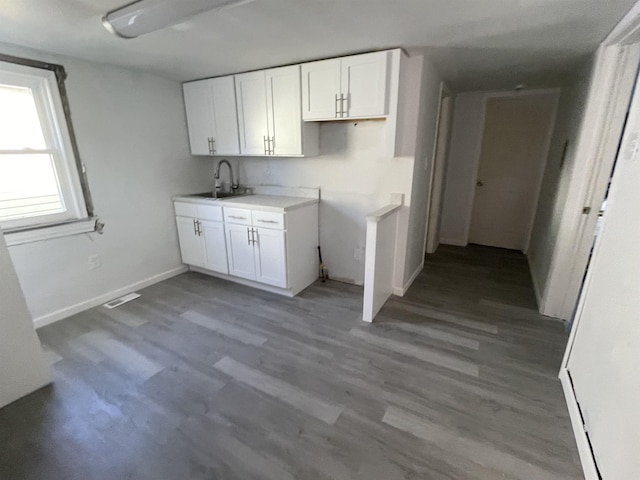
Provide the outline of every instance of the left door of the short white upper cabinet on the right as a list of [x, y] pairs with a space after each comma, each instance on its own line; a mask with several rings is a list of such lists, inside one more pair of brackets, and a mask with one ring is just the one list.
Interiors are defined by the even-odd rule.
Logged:
[[340, 59], [302, 65], [302, 118], [331, 120], [340, 117]]

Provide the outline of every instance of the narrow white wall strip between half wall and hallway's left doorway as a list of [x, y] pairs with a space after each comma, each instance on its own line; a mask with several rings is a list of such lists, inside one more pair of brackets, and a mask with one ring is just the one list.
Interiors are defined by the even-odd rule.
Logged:
[[424, 266], [427, 209], [431, 195], [429, 182], [434, 161], [438, 107], [440, 105], [440, 84], [442, 80], [435, 67], [425, 58], [416, 128], [416, 161], [413, 167], [411, 200], [409, 202], [411, 210], [409, 212], [403, 288], [413, 281], [415, 275]]

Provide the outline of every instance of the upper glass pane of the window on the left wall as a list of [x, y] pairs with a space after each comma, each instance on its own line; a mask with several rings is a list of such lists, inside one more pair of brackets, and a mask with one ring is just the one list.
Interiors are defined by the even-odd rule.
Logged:
[[0, 85], [0, 150], [47, 148], [30, 88]]

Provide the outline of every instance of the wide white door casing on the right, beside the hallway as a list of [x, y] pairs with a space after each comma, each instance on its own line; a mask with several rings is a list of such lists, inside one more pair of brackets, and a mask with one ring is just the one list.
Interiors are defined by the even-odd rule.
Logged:
[[[640, 2], [600, 45], [540, 313], [570, 320], [587, 269], [640, 62]], [[591, 213], [583, 214], [588, 207]]]

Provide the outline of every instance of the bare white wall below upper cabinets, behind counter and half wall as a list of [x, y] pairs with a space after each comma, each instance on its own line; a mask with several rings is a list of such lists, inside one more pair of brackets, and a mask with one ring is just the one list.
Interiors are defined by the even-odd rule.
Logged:
[[253, 185], [319, 187], [320, 245], [329, 276], [362, 285], [366, 215], [409, 193], [413, 157], [384, 156], [383, 121], [320, 125], [320, 154], [313, 158], [243, 158], [240, 181]]

